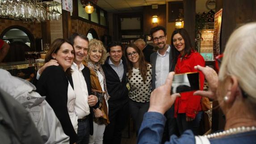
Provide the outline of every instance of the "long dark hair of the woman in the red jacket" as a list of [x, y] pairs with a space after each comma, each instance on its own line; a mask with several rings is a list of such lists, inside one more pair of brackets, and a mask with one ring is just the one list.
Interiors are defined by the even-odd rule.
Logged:
[[172, 38], [171, 38], [172, 58], [174, 60], [176, 60], [178, 58], [179, 54], [180, 54], [180, 52], [173, 45], [173, 36], [176, 35], [177, 33], [179, 33], [185, 41], [185, 50], [184, 50], [184, 53], [181, 57], [184, 57], [186, 54], [189, 55], [191, 53], [191, 50], [193, 50], [192, 43], [191, 43], [191, 40], [190, 40], [190, 37], [189, 37], [189, 33], [183, 28], [175, 29], [172, 32]]

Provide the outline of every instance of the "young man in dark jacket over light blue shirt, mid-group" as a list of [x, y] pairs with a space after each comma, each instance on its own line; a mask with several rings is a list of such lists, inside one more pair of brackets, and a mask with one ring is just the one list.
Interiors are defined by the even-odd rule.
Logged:
[[122, 56], [122, 44], [117, 41], [107, 46], [109, 57], [102, 69], [105, 73], [109, 93], [109, 125], [106, 126], [104, 144], [121, 144], [122, 129], [128, 119], [128, 89], [126, 87], [126, 59]]

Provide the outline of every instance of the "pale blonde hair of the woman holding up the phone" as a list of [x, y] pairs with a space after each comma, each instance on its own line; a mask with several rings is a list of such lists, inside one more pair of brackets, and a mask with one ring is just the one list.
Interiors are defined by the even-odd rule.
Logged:
[[239, 86], [248, 94], [248, 101], [256, 104], [256, 23], [236, 29], [227, 41], [219, 71], [219, 80], [227, 76], [238, 78]]

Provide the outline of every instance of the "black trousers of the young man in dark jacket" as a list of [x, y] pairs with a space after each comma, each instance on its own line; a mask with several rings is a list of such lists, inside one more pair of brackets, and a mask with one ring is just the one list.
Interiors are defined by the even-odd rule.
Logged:
[[106, 126], [103, 143], [121, 144], [122, 130], [126, 127], [129, 117], [128, 102], [122, 106], [113, 107], [109, 104], [109, 125]]

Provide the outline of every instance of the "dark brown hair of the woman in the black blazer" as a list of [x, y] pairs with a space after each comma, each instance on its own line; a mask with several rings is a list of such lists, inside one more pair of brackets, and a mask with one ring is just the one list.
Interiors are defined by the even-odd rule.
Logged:
[[[51, 59], [54, 59], [54, 58], [51, 57], [51, 54], [52, 54], [52, 53], [57, 53], [58, 50], [60, 49], [61, 45], [63, 45], [63, 43], [65, 43], [65, 42], [67, 42], [68, 44], [70, 44], [70, 45], [72, 46], [73, 50], [75, 51], [75, 49], [74, 49], [74, 47], [73, 47], [73, 45], [71, 44], [70, 41], [65, 40], [65, 39], [63, 39], [63, 38], [57, 38], [57, 39], [55, 39], [55, 40], [50, 44], [50, 49], [49, 49], [49, 51], [46, 53], [46, 56], [45, 56], [45, 63], [46, 63], [46, 62], [49, 62]], [[74, 59], [75, 59], [75, 58], [76, 58], [76, 55], [74, 54]], [[60, 66], [60, 65], [59, 65], [59, 66]], [[66, 70], [66, 73], [67, 73], [67, 74], [71, 74], [71, 72], [72, 72], [71, 68], [68, 68], [68, 69]]]

